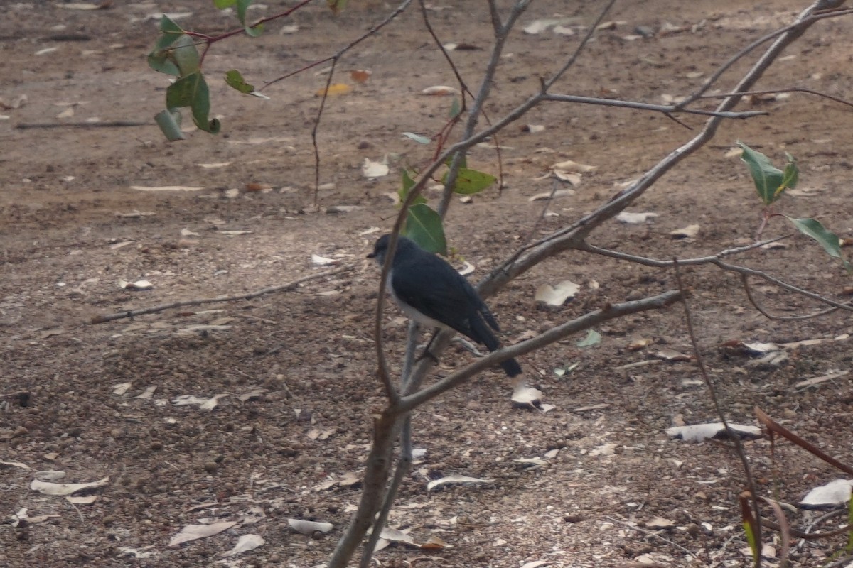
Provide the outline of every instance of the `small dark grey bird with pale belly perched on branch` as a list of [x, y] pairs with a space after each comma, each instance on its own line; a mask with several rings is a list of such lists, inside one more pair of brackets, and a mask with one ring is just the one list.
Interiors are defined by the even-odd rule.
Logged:
[[[368, 258], [384, 265], [390, 239], [389, 234], [378, 238]], [[489, 351], [501, 347], [492, 332], [501, 330], [495, 316], [468, 279], [447, 261], [421, 249], [403, 235], [397, 237], [387, 287], [403, 313], [418, 324], [438, 330], [456, 330], [485, 345]], [[428, 346], [426, 353], [429, 353]], [[501, 366], [509, 377], [521, 374], [521, 366], [515, 359], [507, 359]]]

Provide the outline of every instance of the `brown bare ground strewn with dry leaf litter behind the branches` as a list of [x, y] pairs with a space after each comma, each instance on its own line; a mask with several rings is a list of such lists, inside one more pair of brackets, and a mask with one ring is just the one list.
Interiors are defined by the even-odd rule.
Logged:
[[[435, 3], [432, 23], [444, 42], [488, 48], [488, 20], [469, 6]], [[596, 34], [560, 91], [655, 103], [687, 94], [737, 49], [789, 23], [803, 7], [782, 0], [749, 9], [728, 1], [618, 4], [608, 16], [617, 25]], [[278, 9], [270, 3], [267, 13]], [[284, 22], [299, 26], [295, 32], [279, 34], [283, 24], [276, 23], [257, 40], [219, 43], [206, 72], [223, 134], [195, 132], [189, 141], [169, 144], [153, 123], [15, 126], [92, 117], [149, 122], [163, 105], [166, 79], [145, 65], [156, 37], [154, 20], [145, 16], [192, 12], [182, 23], [206, 32], [229, 29], [233, 17], [202, 1], [115, 3], [97, 11], [6, 5], [0, 95], [7, 103], [26, 95], [26, 102], [3, 110], [9, 118], [0, 122], [0, 563], [311, 566], [328, 558], [357, 502], [353, 478], [362, 472], [371, 416], [383, 400], [371, 335], [379, 271], [364, 259], [378, 233], [363, 233], [390, 227], [396, 209], [386, 194], [397, 189], [397, 167], [426, 164], [430, 157], [401, 133], [431, 135], [446, 120], [448, 98], [418, 93], [453, 84], [453, 77], [415, 9], [345, 57], [342, 80], [349, 80], [351, 69], [373, 74], [350, 94], [328, 100], [318, 135], [324, 188], [314, 209], [310, 129], [319, 105], [315, 93], [326, 77], [305, 72], [268, 89], [272, 100], [255, 100], [236, 95], [217, 76], [238, 67], [250, 82], [263, 83], [333, 54], [390, 9], [353, 5], [334, 19], [317, 3]], [[584, 5], [575, 13], [552, 0], [534, 3], [522, 24], [576, 16], [568, 25], [576, 34], [514, 32], [507, 49], [512, 55], [502, 60], [486, 106], [490, 116], [535, 92], [538, 77], [574, 49], [577, 32], [598, 9]], [[637, 26], [657, 34], [624, 39]], [[851, 26], [844, 19], [813, 26], [760, 87], [806, 87], [850, 99]], [[69, 34], [86, 39], [50, 39]], [[56, 49], [37, 55], [47, 48]], [[463, 74], [479, 77], [485, 53], [452, 55]], [[733, 77], [745, 65], [735, 66]], [[724, 78], [722, 88], [730, 84]], [[791, 152], [802, 171], [800, 191], [781, 207], [850, 237], [850, 109], [804, 94], [767, 99], [741, 107], [766, 110], [768, 117], [724, 123], [711, 145], [630, 209], [657, 217], [613, 222], [593, 244], [666, 259], [749, 243], [760, 206], [746, 168], [728, 153], [735, 140], [776, 162]], [[61, 112], [66, 118], [55, 118]], [[680, 120], [701, 126], [697, 117]], [[523, 124], [546, 128], [525, 132]], [[446, 222], [450, 244], [477, 268], [472, 278], [478, 278], [535, 226], [544, 202], [530, 198], [552, 189], [552, 180], [536, 179], [552, 164], [572, 159], [597, 169], [583, 175], [574, 195], [549, 205], [536, 232], [589, 211], [692, 135], [656, 113], [541, 106], [498, 137], [507, 188], [475, 196], [473, 204], [454, 204]], [[392, 174], [365, 179], [363, 159], [389, 153], [402, 154], [392, 157]], [[469, 164], [496, 173], [496, 154], [478, 146]], [[248, 191], [248, 184], [273, 190]], [[131, 186], [203, 189], [142, 192]], [[427, 192], [433, 201], [437, 196]], [[357, 207], [328, 213], [334, 205]], [[690, 224], [699, 225], [697, 237], [670, 235]], [[773, 221], [765, 236], [789, 230]], [[850, 280], [838, 263], [806, 238], [785, 243], [740, 260], [844, 297]], [[105, 313], [241, 294], [329, 269], [312, 264], [311, 255], [347, 268], [250, 301], [88, 323]], [[710, 267], [685, 269], [684, 277], [693, 289], [699, 345], [728, 417], [754, 424], [757, 404], [828, 454], [853, 461], [850, 376], [795, 387], [850, 368], [849, 340], [832, 339], [850, 332], [849, 315], [769, 320], [747, 301], [739, 277]], [[146, 279], [154, 288], [121, 290], [120, 279]], [[538, 286], [565, 279], [581, 284], [573, 301], [552, 310], [535, 305]], [[774, 313], [816, 306], [766, 283], [752, 284]], [[518, 278], [489, 303], [504, 341], [515, 342], [608, 301], [674, 285], [670, 272], [575, 253]], [[386, 345], [396, 365], [406, 325], [396, 308], [386, 312]], [[597, 331], [597, 345], [577, 347], [581, 338], [574, 337], [522, 359], [528, 381], [554, 406], [547, 413], [513, 409], [511, 386], [492, 371], [415, 414], [415, 448], [421, 451], [390, 524], [409, 531], [415, 542], [438, 536], [448, 547], [394, 544], [377, 554], [380, 565], [749, 564], [737, 501], [746, 482], [733, 447], [688, 444], [664, 433], [673, 424], [717, 421], [695, 362], [656, 357], [667, 349], [690, 353], [682, 308]], [[755, 358], [740, 349], [721, 347], [733, 340], [824, 338], [829, 341], [786, 349], [781, 364], [753, 364]], [[647, 347], [629, 348], [644, 339], [651, 340]], [[436, 373], [470, 357], [451, 347]], [[636, 362], [648, 364], [624, 367]], [[12, 396], [20, 392], [26, 396]], [[175, 404], [182, 395], [224, 396], [213, 410], [201, 410]], [[746, 442], [746, 452], [759, 490], [783, 502], [797, 503], [811, 487], [840, 476], [786, 442], [771, 453], [769, 440], [757, 439]], [[60, 482], [109, 479], [96, 489], [95, 502], [70, 503], [30, 489], [34, 473], [44, 470], [65, 472]], [[450, 474], [487, 482], [427, 491], [429, 481]], [[36, 519], [14, 526], [11, 515], [21, 508]], [[788, 517], [804, 529], [821, 514]], [[334, 529], [305, 536], [288, 525], [292, 518], [329, 522]], [[843, 518], [814, 530], [837, 528]], [[217, 536], [168, 547], [200, 519], [240, 522]], [[264, 545], [221, 556], [250, 533], [263, 536]], [[764, 541], [778, 550], [773, 535], [765, 529]], [[793, 563], [816, 566], [843, 548], [844, 536], [794, 543]]]

